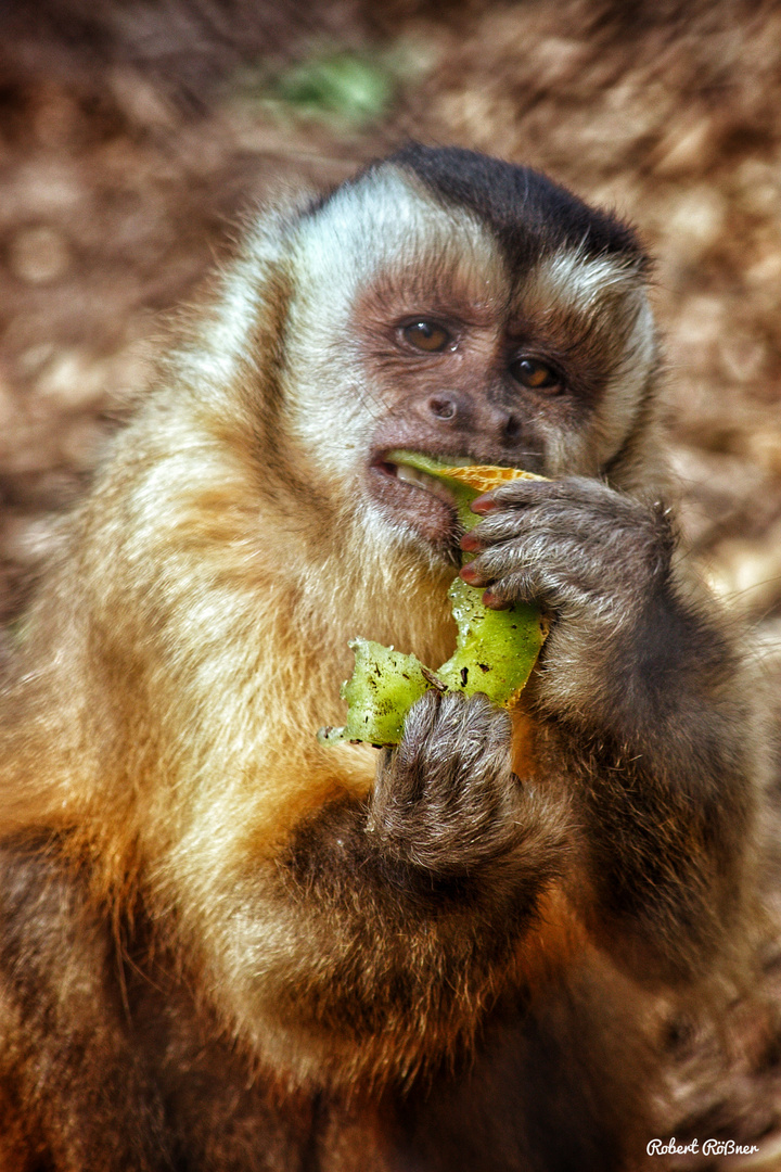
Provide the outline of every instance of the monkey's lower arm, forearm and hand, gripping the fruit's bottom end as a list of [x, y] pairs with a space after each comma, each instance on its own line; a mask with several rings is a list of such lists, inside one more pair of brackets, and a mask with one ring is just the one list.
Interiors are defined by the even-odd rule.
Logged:
[[563, 870], [566, 802], [519, 783], [509, 730], [484, 696], [430, 693], [369, 798], [303, 822], [280, 863], [286, 902], [316, 933], [288, 982], [292, 1016], [352, 1043], [374, 1077], [391, 1035], [406, 1072], [470, 1040]]

